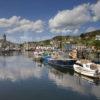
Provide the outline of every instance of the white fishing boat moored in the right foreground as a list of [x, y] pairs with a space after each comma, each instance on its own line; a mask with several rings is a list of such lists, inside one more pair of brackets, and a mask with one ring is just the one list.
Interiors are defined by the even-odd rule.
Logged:
[[100, 78], [100, 67], [92, 62], [76, 61], [74, 64], [75, 72], [91, 77], [91, 78]]

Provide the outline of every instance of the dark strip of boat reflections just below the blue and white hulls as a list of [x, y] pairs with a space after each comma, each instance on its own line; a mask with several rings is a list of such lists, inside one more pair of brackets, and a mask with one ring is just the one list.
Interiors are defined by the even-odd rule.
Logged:
[[95, 85], [100, 85], [100, 79], [94, 79], [94, 78], [91, 78], [91, 77], [87, 77], [87, 76], [78, 74], [73, 69], [66, 68], [66, 70], [65, 70], [61, 67], [52, 66], [52, 68], [50, 69], [50, 72], [54, 73], [55, 75], [57, 74], [58, 76], [60, 76], [60, 75], [61, 76], [70, 75], [72, 77], [74, 76], [74, 77], [77, 77], [79, 79], [86, 80], [89, 83], [93, 83]]

